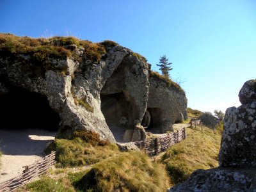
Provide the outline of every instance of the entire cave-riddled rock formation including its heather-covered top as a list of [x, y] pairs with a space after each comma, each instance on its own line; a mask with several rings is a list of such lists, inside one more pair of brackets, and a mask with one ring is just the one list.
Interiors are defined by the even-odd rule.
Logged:
[[17, 88], [43, 95], [60, 118], [61, 132], [86, 129], [115, 142], [126, 131], [129, 140], [144, 140], [144, 128], [136, 126], [145, 114], [144, 127], [172, 130], [180, 113], [186, 116], [186, 95], [149, 74], [145, 58], [114, 42], [0, 34], [0, 100], [21, 94], [12, 92]]

